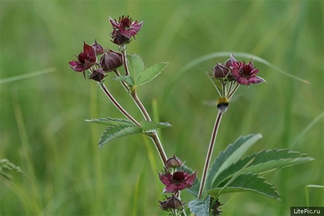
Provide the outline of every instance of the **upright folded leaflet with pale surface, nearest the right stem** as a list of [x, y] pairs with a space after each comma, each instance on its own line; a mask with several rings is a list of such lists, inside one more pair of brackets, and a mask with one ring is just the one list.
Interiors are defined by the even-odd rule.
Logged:
[[225, 151], [221, 152], [207, 174], [206, 189], [209, 190], [217, 176], [227, 167], [239, 160], [240, 157], [261, 137], [261, 134], [250, 134], [246, 137], [239, 137], [233, 144], [230, 144]]

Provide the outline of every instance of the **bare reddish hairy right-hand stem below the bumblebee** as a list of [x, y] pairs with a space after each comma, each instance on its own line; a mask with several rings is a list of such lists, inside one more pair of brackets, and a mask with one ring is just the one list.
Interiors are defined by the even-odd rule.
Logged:
[[198, 199], [201, 199], [202, 195], [203, 195], [203, 189], [204, 189], [204, 186], [205, 186], [205, 180], [206, 180], [207, 172], [208, 172], [208, 169], [209, 169], [210, 159], [211, 159], [212, 154], [213, 154], [216, 135], [217, 135], [217, 131], [218, 131], [218, 128], [219, 128], [220, 121], [222, 119], [222, 114], [223, 113], [218, 112], [218, 115], [216, 117], [216, 121], [215, 121], [215, 124], [214, 124], [212, 138], [210, 139], [208, 152], [207, 152], [207, 156], [206, 156], [206, 161], [205, 161], [205, 165], [204, 165], [204, 168], [203, 168], [203, 176], [202, 176], [202, 181], [201, 181], [199, 192], [198, 192]]

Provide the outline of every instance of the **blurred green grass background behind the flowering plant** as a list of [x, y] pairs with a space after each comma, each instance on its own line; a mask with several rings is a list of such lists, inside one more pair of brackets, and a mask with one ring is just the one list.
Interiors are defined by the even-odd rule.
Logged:
[[[123, 116], [93, 81], [68, 69], [82, 41], [110, 42], [109, 15], [145, 23], [128, 52], [147, 66], [169, 62], [139, 96], [162, 131], [169, 156], [176, 153], [201, 177], [217, 99], [204, 71], [217, 58], [195, 65], [175, 85], [180, 69], [218, 51], [248, 52], [307, 79], [310, 85], [255, 63], [268, 82], [240, 87], [220, 126], [213, 158], [238, 136], [262, 133], [249, 151], [288, 148], [314, 157], [267, 177], [282, 201], [249, 193], [221, 197], [223, 215], [289, 215], [306, 206], [305, 186], [323, 185], [323, 119], [298, 138], [323, 112], [322, 1], [1, 1], [1, 77], [55, 67], [55, 72], [1, 85], [1, 153], [26, 171], [0, 181], [1, 215], [161, 215], [162, 168], [151, 141], [134, 135], [98, 150], [104, 126], [84, 119]], [[242, 58], [238, 58], [242, 60]], [[247, 60], [247, 59], [246, 59]], [[122, 106], [141, 119], [121, 85], [106, 85]], [[168, 97], [164, 97], [169, 91]], [[297, 139], [297, 140], [295, 140]], [[187, 192], [182, 198], [193, 197]], [[310, 206], [323, 206], [323, 190], [309, 189]]]

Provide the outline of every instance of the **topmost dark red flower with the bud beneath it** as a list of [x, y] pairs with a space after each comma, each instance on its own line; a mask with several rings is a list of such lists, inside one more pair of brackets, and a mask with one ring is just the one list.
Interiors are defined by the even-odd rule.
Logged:
[[118, 22], [112, 18], [109, 18], [109, 21], [113, 27], [111, 37], [113, 38], [113, 42], [118, 45], [129, 43], [132, 36], [135, 38], [135, 35], [142, 28], [144, 22], [138, 23], [137, 20], [133, 22], [129, 16], [119, 17]]

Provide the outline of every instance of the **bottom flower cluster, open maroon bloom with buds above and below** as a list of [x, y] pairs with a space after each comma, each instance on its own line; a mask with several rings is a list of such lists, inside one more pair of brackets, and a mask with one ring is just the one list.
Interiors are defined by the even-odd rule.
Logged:
[[165, 185], [163, 193], [172, 193], [167, 200], [159, 201], [162, 210], [181, 210], [184, 203], [179, 199], [179, 191], [185, 188], [191, 188], [196, 180], [196, 172], [189, 173], [181, 169], [181, 160], [176, 156], [169, 158], [163, 173], [159, 174], [160, 181]]

